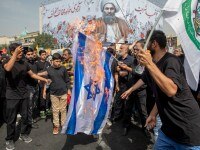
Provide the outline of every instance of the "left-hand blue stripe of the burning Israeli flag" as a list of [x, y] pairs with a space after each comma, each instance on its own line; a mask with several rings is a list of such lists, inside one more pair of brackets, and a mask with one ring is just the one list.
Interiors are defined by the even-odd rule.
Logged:
[[75, 74], [74, 74], [74, 88], [75, 88], [75, 95], [74, 95], [74, 106], [73, 111], [71, 114], [71, 118], [68, 123], [68, 127], [66, 130], [67, 134], [74, 134], [76, 129], [76, 104], [79, 98], [81, 86], [82, 86], [82, 80], [84, 76], [84, 68], [83, 65], [80, 62], [80, 58], [83, 57], [83, 51], [85, 49], [85, 43], [86, 43], [86, 36], [82, 33], [79, 33], [78, 35], [78, 43], [79, 47], [77, 50], [76, 55], [76, 63], [75, 63]]

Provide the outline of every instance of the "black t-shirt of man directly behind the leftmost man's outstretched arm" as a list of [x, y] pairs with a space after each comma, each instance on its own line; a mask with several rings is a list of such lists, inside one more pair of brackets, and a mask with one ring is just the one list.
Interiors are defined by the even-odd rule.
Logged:
[[[34, 61], [28, 61], [26, 60], [26, 62], [28, 63], [30, 69], [33, 71], [33, 73], [37, 73], [37, 65]], [[27, 74], [27, 85], [32, 86], [32, 87], [36, 87], [38, 82], [37, 80], [31, 78], [28, 74]]]

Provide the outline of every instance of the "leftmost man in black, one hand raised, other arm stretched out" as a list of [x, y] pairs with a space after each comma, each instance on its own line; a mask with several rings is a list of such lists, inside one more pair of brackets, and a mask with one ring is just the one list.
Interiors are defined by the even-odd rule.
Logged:
[[9, 46], [11, 58], [3, 62], [6, 77], [6, 123], [7, 123], [7, 137], [6, 149], [13, 150], [14, 136], [16, 129], [16, 118], [18, 111], [22, 116], [21, 119], [21, 135], [20, 139], [26, 143], [32, 141], [29, 137], [30, 126], [28, 125], [28, 102], [29, 95], [26, 87], [27, 74], [41, 82], [48, 82], [47, 79], [34, 74], [29, 65], [22, 59], [23, 47], [17, 43]]

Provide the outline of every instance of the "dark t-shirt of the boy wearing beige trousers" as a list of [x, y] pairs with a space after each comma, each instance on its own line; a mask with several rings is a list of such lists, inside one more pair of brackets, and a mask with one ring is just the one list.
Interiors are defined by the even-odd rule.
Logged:
[[47, 68], [48, 78], [52, 80], [50, 84], [50, 94], [61, 96], [67, 94], [70, 88], [70, 79], [67, 74], [67, 69], [63, 66], [60, 68]]

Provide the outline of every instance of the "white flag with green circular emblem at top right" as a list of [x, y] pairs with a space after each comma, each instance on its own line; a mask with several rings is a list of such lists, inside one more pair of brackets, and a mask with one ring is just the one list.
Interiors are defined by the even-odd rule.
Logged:
[[165, 20], [180, 39], [185, 53], [185, 73], [189, 86], [197, 90], [200, 72], [200, 0], [168, 0]]

